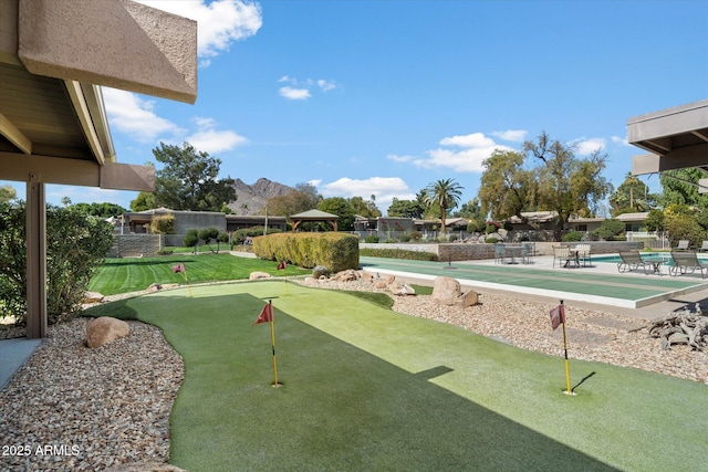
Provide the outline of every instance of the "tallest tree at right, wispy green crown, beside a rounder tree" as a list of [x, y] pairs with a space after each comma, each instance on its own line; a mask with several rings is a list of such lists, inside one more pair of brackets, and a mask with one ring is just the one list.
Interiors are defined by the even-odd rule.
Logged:
[[543, 132], [538, 140], [525, 141], [523, 151], [539, 164], [537, 210], [558, 212], [553, 230], [556, 241], [561, 240], [571, 216], [593, 216], [602, 199], [612, 191], [612, 185], [602, 176], [607, 160], [602, 149], [581, 159], [575, 156], [574, 146], [552, 140]]

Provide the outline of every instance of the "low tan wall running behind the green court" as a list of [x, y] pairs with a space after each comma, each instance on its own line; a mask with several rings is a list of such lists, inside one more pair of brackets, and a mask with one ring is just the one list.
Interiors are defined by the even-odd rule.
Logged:
[[[644, 249], [643, 242], [627, 241], [583, 241], [590, 244], [591, 254], [616, 254], [629, 249]], [[534, 255], [553, 255], [553, 247], [574, 247], [577, 242], [535, 242]], [[440, 243], [440, 244], [408, 244], [408, 243], [360, 243], [360, 248], [371, 249], [402, 249], [405, 251], [421, 251], [438, 254], [438, 261], [476, 261], [494, 259], [493, 244], [478, 243]]]

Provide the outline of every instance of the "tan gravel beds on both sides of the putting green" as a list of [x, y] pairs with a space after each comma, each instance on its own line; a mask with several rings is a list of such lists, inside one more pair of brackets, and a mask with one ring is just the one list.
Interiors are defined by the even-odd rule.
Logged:
[[[295, 282], [294, 280], [292, 282]], [[377, 291], [369, 282], [296, 281], [308, 286]], [[135, 294], [110, 297], [116, 300]], [[396, 296], [394, 310], [450, 323], [514, 346], [563, 355], [562, 329], [552, 331], [553, 305], [481, 293], [467, 308], [430, 296]], [[566, 307], [569, 357], [633, 367], [708, 384], [708, 353], [662, 349], [648, 323]], [[169, 412], [181, 384], [181, 358], [156, 327], [131, 322], [131, 333], [96, 349], [85, 347], [79, 318], [51, 326], [45, 342], [0, 391], [2, 447], [31, 454], [0, 455], [0, 471], [110, 470], [126, 463], [166, 463]], [[0, 331], [0, 337], [23, 331]], [[571, 364], [572, 368], [572, 364]], [[54, 448], [38, 454], [38, 448]], [[1, 451], [0, 451], [1, 452]], [[9, 452], [9, 449], [8, 449]]]

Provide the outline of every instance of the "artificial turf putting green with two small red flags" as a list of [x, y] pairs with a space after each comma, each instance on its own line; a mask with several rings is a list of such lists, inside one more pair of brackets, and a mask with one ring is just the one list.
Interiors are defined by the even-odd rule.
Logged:
[[[569, 397], [561, 357], [351, 294], [291, 283], [285, 296], [284, 287], [202, 286], [192, 297], [178, 290], [101, 308], [159, 326], [184, 357], [170, 463], [194, 471], [706, 466], [706, 385], [571, 360], [573, 385], [586, 379]], [[279, 389], [269, 325], [251, 327], [271, 296]]]

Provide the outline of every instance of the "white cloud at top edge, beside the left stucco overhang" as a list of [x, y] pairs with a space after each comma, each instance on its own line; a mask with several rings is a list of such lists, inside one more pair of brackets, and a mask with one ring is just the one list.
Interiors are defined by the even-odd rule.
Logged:
[[148, 7], [197, 21], [198, 54], [215, 57], [228, 51], [235, 41], [254, 35], [263, 24], [261, 8], [251, 1], [215, 0], [138, 0]]

